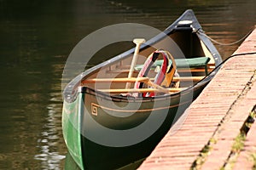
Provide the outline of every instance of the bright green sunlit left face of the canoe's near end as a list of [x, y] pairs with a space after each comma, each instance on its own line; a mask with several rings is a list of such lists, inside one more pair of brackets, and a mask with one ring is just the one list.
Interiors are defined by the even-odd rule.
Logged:
[[79, 167], [84, 169], [80, 137], [81, 105], [79, 103], [81, 101], [81, 95], [79, 95], [72, 103], [64, 101], [62, 110], [62, 132], [70, 155]]

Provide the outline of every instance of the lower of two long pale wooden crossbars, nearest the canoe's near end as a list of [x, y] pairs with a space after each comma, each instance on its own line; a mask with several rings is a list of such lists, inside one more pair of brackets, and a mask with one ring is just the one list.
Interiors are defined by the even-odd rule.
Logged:
[[[184, 88], [165, 88], [168, 92], [179, 92]], [[123, 93], [147, 93], [147, 92], [159, 92], [162, 93], [163, 90], [159, 88], [130, 88], [130, 89], [97, 89], [98, 91], [108, 93], [108, 94], [123, 94]]]

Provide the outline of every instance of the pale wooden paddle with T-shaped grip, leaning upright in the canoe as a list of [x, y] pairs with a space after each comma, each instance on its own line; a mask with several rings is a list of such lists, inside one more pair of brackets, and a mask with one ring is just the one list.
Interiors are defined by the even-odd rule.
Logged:
[[[143, 38], [135, 38], [133, 40], [133, 42], [136, 44], [136, 48], [135, 48], [133, 58], [132, 58], [132, 61], [131, 61], [131, 67], [130, 67], [130, 71], [129, 71], [129, 74], [128, 74], [128, 78], [132, 77], [132, 73], [134, 71], [134, 67], [135, 67], [136, 62], [137, 62], [137, 54], [139, 53], [140, 46], [143, 42], [146, 42], [146, 40], [143, 39]], [[127, 82], [125, 88], [130, 88], [130, 87], [131, 87], [131, 82]]]

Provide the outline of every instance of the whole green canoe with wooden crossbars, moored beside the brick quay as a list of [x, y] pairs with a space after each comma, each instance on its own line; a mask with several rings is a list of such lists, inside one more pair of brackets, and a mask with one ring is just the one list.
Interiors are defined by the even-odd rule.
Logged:
[[[218, 72], [221, 56], [192, 10], [163, 33], [135, 40], [136, 48], [67, 84], [63, 136], [81, 169], [117, 169], [143, 160]], [[168, 38], [176, 48], [167, 45]]]

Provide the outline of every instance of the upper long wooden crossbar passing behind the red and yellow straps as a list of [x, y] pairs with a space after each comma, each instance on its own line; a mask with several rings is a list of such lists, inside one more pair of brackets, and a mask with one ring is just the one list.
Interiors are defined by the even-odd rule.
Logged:
[[[178, 82], [178, 81], [184, 81], [184, 82], [189, 82], [189, 81], [201, 81], [201, 79], [204, 77], [173, 77], [172, 81], [173, 82]], [[150, 79], [153, 81], [154, 79]], [[146, 82], [148, 81], [148, 77], [131, 77], [131, 78], [92, 78], [92, 79], [87, 79], [82, 82], [82, 84], [86, 83], [95, 83], [95, 82]]]

